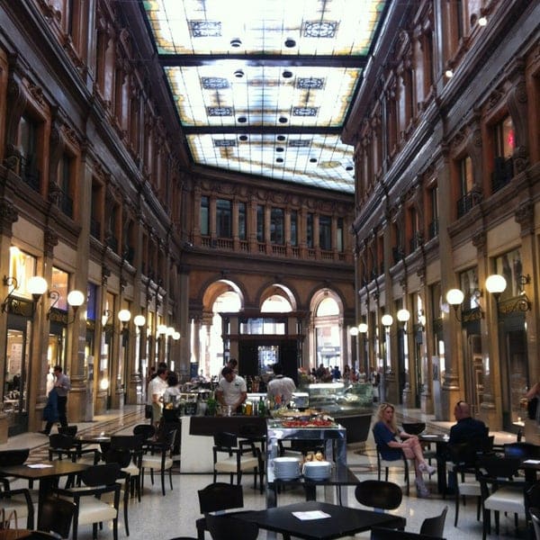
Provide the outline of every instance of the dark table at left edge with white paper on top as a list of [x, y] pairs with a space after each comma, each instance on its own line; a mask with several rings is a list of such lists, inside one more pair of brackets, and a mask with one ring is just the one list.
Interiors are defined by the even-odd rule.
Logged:
[[39, 481], [38, 528], [40, 528], [41, 508], [56, 479], [69, 474], [85, 471], [87, 464], [77, 464], [68, 460], [43, 461], [39, 464], [9, 465], [0, 467], [0, 473], [24, 480]]

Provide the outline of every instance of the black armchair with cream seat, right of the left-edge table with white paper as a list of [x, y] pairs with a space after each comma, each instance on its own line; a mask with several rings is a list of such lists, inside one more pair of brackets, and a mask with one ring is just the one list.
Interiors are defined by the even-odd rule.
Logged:
[[[121, 478], [119, 464], [101, 464], [88, 467], [79, 473], [83, 487], [52, 490], [59, 498], [73, 500], [76, 512], [73, 518], [73, 540], [76, 540], [80, 525], [92, 525], [94, 538], [97, 525], [112, 520], [112, 536], [118, 540], [118, 509], [120, 506]], [[103, 500], [103, 495], [112, 493], [112, 504]]]

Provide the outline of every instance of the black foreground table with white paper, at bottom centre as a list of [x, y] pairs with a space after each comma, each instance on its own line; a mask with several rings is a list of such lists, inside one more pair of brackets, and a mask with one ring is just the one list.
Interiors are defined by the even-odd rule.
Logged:
[[[321, 516], [328, 517], [301, 519], [293, 515], [296, 512], [321, 513]], [[393, 514], [353, 509], [316, 500], [235, 514], [234, 518], [257, 523], [259, 528], [270, 531], [268, 538], [275, 537], [272, 533], [279, 533], [285, 540], [291, 536], [304, 540], [332, 540], [368, 531], [372, 527], [403, 529], [406, 525], [405, 518]]]

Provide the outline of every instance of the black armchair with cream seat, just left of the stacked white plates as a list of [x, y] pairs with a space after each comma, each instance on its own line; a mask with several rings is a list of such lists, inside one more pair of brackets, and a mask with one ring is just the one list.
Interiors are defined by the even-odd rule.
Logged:
[[259, 476], [260, 491], [263, 492], [264, 464], [261, 452], [256, 446], [246, 440], [240, 440], [233, 433], [214, 434], [213, 456], [213, 481], [217, 482], [218, 473], [228, 473], [230, 483], [237, 475], [237, 483], [242, 479], [244, 471], [252, 471], [254, 488], [257, 489], [257, 475]]

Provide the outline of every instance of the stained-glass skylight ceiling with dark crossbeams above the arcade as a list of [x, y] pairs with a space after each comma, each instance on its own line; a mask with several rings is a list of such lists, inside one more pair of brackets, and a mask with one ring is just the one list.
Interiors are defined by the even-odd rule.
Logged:
[[198, 165], [354, 192], [340, 133], [381, 0], [141, 0]]

